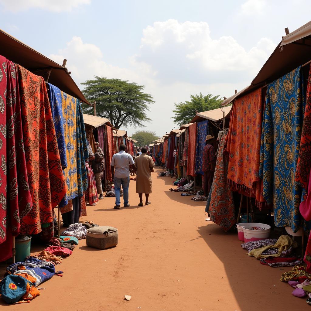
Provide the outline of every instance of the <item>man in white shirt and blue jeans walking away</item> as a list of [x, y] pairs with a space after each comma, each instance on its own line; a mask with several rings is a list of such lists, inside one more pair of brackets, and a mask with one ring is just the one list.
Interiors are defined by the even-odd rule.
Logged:
[[124, 199], [124, 207], [129, 207], [128, 204], [128, 187], [130, 185], [130, 169], [136, 170], [134, 160], [132, 156], [125, 152], [126, 146], [120, 145], [119, 152], [114, 154], [111, 159], [111, 174], [112, 179], [114, 180], [114, 193], [116, 196], [116, 205], [115, 209], [120, 208], [120, 190], [121, 186], [123, 189], [123, 199]]

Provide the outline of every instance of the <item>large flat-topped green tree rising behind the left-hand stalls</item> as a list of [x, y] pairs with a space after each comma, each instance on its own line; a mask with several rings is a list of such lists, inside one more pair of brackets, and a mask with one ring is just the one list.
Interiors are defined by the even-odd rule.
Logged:
[[[81, 83], [86, 86], [83, 94], [93, 103], [96, 101], [96, 115], [107, 118], [111, 124], [119, 129], [121, 126], [143, 126], [144, 122], [150, 122], [146, 111], [153, 104], [153, 97], [143, 93], [144, 86], [121, 79], [107, 79], [94, 77]], [[83, 112], [94, 114], [94, 108], [84, 104]]]

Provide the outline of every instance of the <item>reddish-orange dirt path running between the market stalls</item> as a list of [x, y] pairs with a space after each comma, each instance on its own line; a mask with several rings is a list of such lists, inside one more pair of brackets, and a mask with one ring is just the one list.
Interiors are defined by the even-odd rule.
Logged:
[[[114, 198], [88, 207], [100, 225], [119, 230], [115, 248], [96, 250], [79, 241], [57, 266], [46, 289], [30, 304], [10, 310], [248, 311], [307, 308], [280, 281], [290, 268], [263, 266], [246, 255], [236, 234], [205, 222], [205, 202], [193, 202], [168, 189], [174, 179], [153, 173], [151, 205], [137, 207], [135, 182], [129, 208], [114, 210]], [[35, 250], [36, 251], [36, 250]], [[131, 295], [125, 301], [124, 295]], [[0, 304], [1, 308], [3, 304]], [[140, 309], [139, 309], [140, 307]]]

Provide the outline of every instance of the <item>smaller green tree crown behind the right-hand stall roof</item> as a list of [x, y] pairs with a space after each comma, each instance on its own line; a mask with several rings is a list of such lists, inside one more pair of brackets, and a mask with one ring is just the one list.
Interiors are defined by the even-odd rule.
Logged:
[[175, 124], [187, 124], [195, 117], [196, 110], [198, 112], [212, 110], [220, 108], [222, 99], [219, 95], [213, 96], [212, 94], [207, 94], [205, 96], [200, 93], [199, 95], [190, 95], [190, 101], [186, 100], [184, 103], [175, 103], [174, 120]]

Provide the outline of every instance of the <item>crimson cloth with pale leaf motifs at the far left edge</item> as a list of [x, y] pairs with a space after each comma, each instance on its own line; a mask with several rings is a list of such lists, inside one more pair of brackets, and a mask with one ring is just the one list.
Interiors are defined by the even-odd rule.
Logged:
[[7, 60], [0, 57], [0, 244], [7, 237], [7, 140], [6, 140], [6, 106], [7, 106]]

